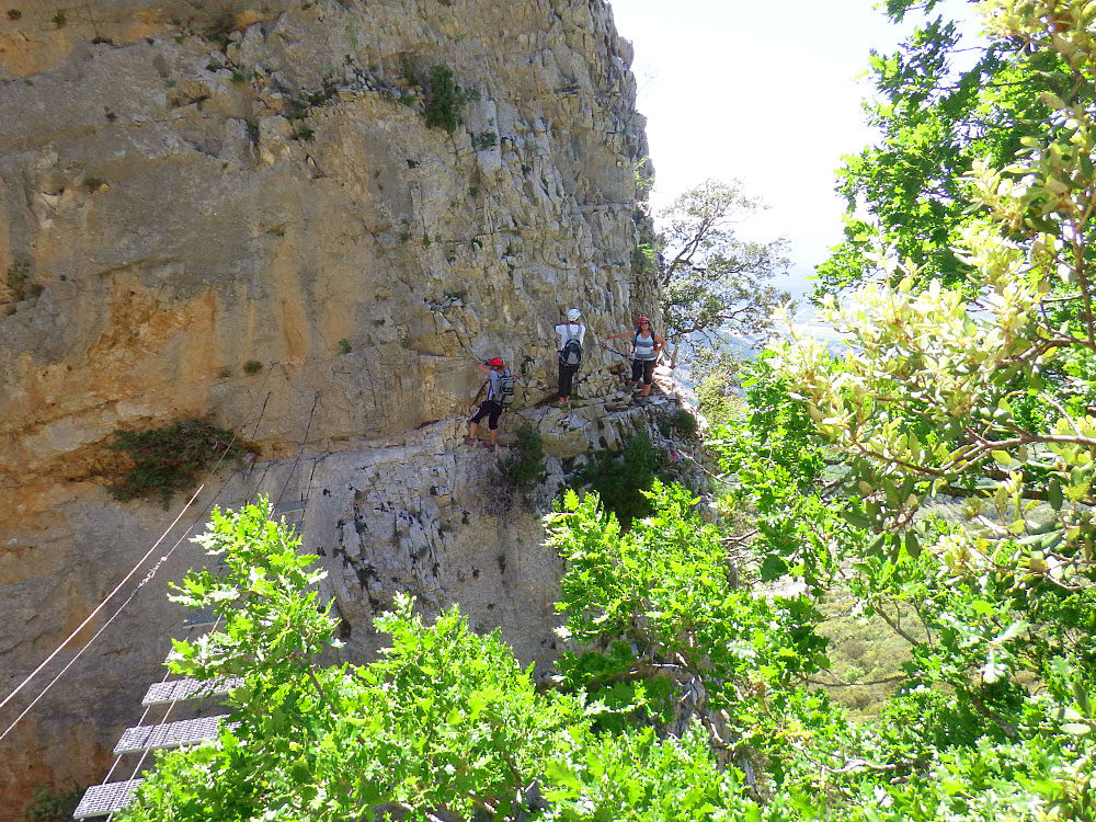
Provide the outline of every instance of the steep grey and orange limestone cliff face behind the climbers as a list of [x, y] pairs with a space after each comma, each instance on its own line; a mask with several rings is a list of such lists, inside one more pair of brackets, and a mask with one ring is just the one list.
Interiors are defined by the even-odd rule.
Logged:
[[[643, 121], [607, 4], [18, 7], [0, 13], [0, 697], [182, 507], [111, 499], [112, 432], [209, 414], [258, 456], [209, 478], [149, 562], [215, 500], [308, 499], [350, 653], [409, 590], [550, 655], [539, 520], [500, 512], [493, 458], [454, 444], [493, 355], [557, 478], [647, 425], [533, 408], [563, 310], [594, 333], [655, 310], [632, 265]], [[587, 349], [579, 392], [606, 396], [613, 363]], [[180, 545], [0, 743], [0, 819], [37, 783], [105, 773], [183, 618], [164, 580], [202, 558]]]

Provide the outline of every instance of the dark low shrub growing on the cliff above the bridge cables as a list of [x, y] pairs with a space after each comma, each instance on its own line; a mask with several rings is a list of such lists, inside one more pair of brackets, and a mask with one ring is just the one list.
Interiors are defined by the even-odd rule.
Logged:
[[179, 491], [194, 487], [202, 471], [221, 458], [238, 459], [247, 447], [231, 431], [208, 420], [180, 420], [159, 429], [115, 431], [112, 450], [124, 452], [133, 467], [111, 489], [116, 500], [159, 496], [164, 507]]

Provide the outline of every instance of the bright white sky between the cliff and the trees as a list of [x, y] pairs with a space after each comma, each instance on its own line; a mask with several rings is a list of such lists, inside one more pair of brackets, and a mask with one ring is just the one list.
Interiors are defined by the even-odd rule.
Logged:
[[[655, 209], [707, 178], [740, 179], [770, 206], [740, 236], [788, 238], [794, 271], [780, 285], [809, 290], [842, 239], [833, 172], [871, 139], [860, 107], [868, 53], [890, 53], [912, 25], [890, 24], [877, 0], [610, 2], [636, 47]], [[963, 0], [939, 11], [968, 15]]]

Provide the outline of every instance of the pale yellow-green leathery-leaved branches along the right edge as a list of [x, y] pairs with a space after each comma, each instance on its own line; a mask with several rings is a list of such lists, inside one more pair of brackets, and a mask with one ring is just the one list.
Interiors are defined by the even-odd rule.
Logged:
[[[1025, 586], [1084, 589], [1096, 584], [1087, 400], [1096, 386], [1080, 365], [1096, 334], [1084, 239], [1096, 193], [1096, 9], [1071, 7], [1046, 23], [1041, 3], [993, 8], [998, 36], [1024, 39], [1026, 50], [1070, 44], [1054, 53], [1077, 75], [1076, 93], [1043, 95], [1042, 133], [1024, 138], [1012, 165], [979, 162], [964, 178], [984, 212], [958, 249], [967, 281], [925, 286], [922, 266], [879, 256], [883, 283], [841, 306], [827, 296], [819, 313], [847, 331], [854, 354], [836, 359], [819, 342], [796, 341], [778, 346], [778, 361], [819, 433], [848, 455], [843, 483], [864, 500], [854, 525], [915, 552], [921, 535], [910, 526], [922, 501], [963, 496], [978, 527], [941, 550], [957, 575], [1000, 563], [1027, 574], [1016, 580]], [[1062, 41], [1070, 26], [1083, 34]], [[1043, 502], [1050, 511], [1040, 514]]]

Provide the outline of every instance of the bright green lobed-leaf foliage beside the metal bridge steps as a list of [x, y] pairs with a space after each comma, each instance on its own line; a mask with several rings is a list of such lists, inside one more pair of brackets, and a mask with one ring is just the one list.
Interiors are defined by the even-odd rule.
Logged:
[[615, 750], [597, 747], [581, 701], [538, 693], [498, 633], [472, 633], [455, 608], [427, 625], [398, 596], [377, 619], [390, 644], [376, 662], [318, 666], [336, 627], [330, 605], [318, 607], [323, 572], [308, 570], [315, 558], [299, 556], [269, 515], [265, 501], [217, 511], [199, 541], [228, 572], [191, 572], [175, 596], [214, 607], [222, 627], [176, 642], [171, 666], [202, 680], [242, 676], [238, 724], [213, 745], [161, 754], [126, 819], [513, 819], [538, 779], [559, 795], [560, 813], [571, 810], [558, 819], [610, 801], [568, 800], [567, 765], [589, 768], [579, 785], [596, 791], [597, 756]]

